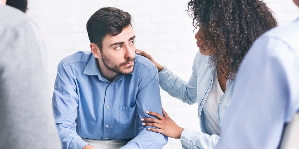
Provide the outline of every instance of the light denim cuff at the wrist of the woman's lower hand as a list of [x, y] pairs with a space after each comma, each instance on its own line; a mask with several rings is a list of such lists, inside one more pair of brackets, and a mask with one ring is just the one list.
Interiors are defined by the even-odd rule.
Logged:
[[188, 128], [184, 128], [181, 134], [182, 148], [193, 148], [193, 142], [197, 131], [193, 131]]

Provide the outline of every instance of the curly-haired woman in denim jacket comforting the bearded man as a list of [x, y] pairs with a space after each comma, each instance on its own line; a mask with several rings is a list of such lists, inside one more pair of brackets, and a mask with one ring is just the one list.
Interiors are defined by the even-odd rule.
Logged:
[[136, 53], [155, 63], [164, 91], [184, 103], [198, 103], [201, 131], [179, 127], [163, 109], [164, 116], [147, 111], [158, 119], [141, 120], [142, 125], [159, 128], [149, 128], [149, 131], [181, 139], [183, 148], [213, 148], [221, 129], [225, 129], [221, 121], [229, 107], [242, 58], [260, 35], [277, 26], [277, 21], [261, 0], [191, 0], [188, 12], [194, 15], [193, 26], [199, 27], [195, 35], [199, 52], [188, 83], [144, 51], [136, 50]]

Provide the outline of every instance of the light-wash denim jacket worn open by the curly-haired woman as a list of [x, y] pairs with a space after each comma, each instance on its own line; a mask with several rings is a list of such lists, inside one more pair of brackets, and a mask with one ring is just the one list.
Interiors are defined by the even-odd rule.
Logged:
[[[216, 66], [210, 59], [210, 56], [204, 56], [197, 52], [193, 62], [192, 75], [188, 83], [174, 75], [166, 67], [159, 72], [160, 86], [164, 91], [189, 105], [198, 103], [198, 118], [201, 132], [184, 128], [181, 134], [183, 148], [214, 148], [220, 138], [216, 134], [207, 134], [205, 117], [201, 117], [204, 112], [202, 107], [210, 93], [213, 79], [216, 78], [214, 75], [215, 71]], [[227, 80], [226, 91], [218, 104], [220, 128], [222, 117], [229, 106], [233, 85], [234, 80]]]

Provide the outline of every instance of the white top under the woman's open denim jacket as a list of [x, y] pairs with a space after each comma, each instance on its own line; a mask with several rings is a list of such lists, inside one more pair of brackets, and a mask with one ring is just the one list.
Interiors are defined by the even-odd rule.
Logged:
[[[217, 76], [217, 71], [216, 75]], [[205, 117], [205, 126], [207, 128], [207, 133], [212, 135], [216, 134], [219, 136], [221, 129], [218, 122], [218, 104], [224, 92], [222, 91], [219, 81], [217, 78], [213, 79], [212, 88], [210, 93], [203, 105], [203, 115]]]

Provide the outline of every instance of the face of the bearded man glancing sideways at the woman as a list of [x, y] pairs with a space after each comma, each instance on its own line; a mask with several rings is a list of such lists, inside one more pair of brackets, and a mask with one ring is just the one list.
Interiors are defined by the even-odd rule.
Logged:
[[135, 62], [135, 35], [131, 25], [123, 28], [116, 36], [106, 35], [103, 39], [101, 58], [104, 65], [119, 74], [133, 72]]

